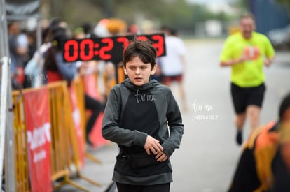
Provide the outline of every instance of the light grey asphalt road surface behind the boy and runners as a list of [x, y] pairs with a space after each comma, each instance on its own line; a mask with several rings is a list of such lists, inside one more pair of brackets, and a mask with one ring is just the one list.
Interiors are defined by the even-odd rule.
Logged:
[[[223, 40], [188, 40], [187, 66], [184, 78], [188, 110], [182, 112], [184, 137], [180, 149], [171, 157], [174, 182], [172, 192], [225, 192], [233, 177], [241, 147], [235, 144], [234, 111], [230, 98], [230, 68], [219, 67]], [[277, 57], [265, 68], [265, 100], [261, 124], [277, 119], [282, 97], [290, 91], [289, 52], [277, 52]], [[179, 101], [177, 87], [172, 91]], [[181, 105], [181, 103], [180, 103]], [[244, 138], [249, 134], [248, 122]], [[111, 183], [118, 147], [115, 144], [88, 151], [102, 163], [89, 159], [81, 173], [102, 186], [84, 179], [73, 179], [90, 191], [105, 191]], [[59, 191], [81, 191], [69, 184]]]

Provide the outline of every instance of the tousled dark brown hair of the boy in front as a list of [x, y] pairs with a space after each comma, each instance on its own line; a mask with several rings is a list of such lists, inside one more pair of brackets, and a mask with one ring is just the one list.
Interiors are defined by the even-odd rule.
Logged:
[[123, 54], [123, 66], [126, 67], [127, 62], [132, 61], [135, 57], [139, 57], [144, 64], [151, 64], [151, 68], [156, 65], [156, 49], [149, 40], [137, 40], [134, 38]]

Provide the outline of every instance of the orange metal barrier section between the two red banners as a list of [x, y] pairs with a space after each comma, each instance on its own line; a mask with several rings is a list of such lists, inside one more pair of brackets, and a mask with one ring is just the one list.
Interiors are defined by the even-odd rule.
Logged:
[[47, 85], [50, 100], [50, 121], [52, 130], [52, 179], [57, 181], [55, 190], [65, 184], [71, 184], [82, 191], [88, 191], [83, 186], [73, 182], [70, 175], [74, 167], [78, 167], [79, 157], [74, 133], [72, 111], [67, 88], [67, 82], [53, 82]]

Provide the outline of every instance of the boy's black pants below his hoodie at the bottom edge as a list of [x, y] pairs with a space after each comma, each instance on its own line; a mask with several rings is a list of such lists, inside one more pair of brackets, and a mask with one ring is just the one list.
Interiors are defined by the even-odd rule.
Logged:
[[130, 185], [117, 183], [118, 192], [169, 192], [170, 183], [156, 185]]

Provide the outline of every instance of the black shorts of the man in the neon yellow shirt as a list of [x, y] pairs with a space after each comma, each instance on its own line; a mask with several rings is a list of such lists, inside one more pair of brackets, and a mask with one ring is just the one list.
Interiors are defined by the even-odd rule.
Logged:
[[239, 87], [232, 82], [230, 85], [230, 92], [233, 98], [235, 113], [239, 114], [246, 112], [246, 108], [249, 105], [256, 105], [261, 108], [265, 89], [264, 83], [258, 87]]

